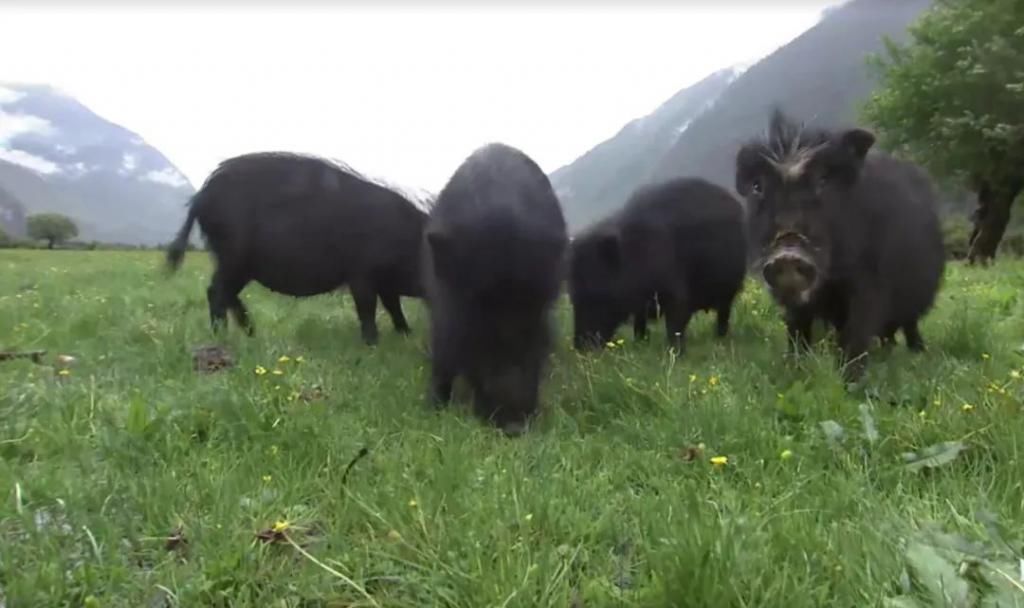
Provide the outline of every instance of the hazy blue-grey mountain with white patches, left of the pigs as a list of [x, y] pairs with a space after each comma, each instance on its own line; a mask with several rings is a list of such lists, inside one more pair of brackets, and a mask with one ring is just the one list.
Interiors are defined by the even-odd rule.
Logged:
[[170, 241], [195, 188], [137, 134], [48, 86], [0, 85], [0, 188], [82, 241]]

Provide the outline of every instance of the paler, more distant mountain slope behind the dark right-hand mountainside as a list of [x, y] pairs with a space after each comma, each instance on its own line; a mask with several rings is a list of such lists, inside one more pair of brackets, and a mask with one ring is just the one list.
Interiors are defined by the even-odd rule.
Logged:
[[716, 72], [687, 87], [646, 117], [631, 121], [571, 164], [551, 174], [570, 229], [623, 204], [679, 134], [734, 81], [741, 70]]

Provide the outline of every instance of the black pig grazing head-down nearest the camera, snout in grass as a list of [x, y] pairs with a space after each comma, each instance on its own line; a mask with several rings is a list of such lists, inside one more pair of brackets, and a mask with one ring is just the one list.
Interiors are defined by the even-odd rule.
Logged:
[[478, 416], [510, 435], [525, 428], [567, 244], [558, 199], [526, 155], [492, 143], [459, 167], [424, 234], [433, 403], [447, 403], [463, 375]]

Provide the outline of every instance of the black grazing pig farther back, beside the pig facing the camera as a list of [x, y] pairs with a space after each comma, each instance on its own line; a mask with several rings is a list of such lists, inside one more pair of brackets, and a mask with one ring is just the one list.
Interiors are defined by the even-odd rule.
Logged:
[[657, 311], [670, 345], [680, 350], [700, 310], [716, 311], [718, 335], [725, 336], [746, 273], [742, 220], [739, 201], [700, 178], [638, 189], [622, 210], [572, 242], [575, 348], [609, 342], [630, 315], [634, 334], [643, 338], [646, 319]]

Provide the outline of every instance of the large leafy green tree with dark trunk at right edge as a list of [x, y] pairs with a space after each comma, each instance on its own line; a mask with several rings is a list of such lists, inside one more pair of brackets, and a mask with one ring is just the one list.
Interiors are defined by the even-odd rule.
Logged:
[[936, 0], [868, 63], [881, 88], [863, 108], [880, 144], [970, 187], [969, 259], [995, 256], [1024, 189], [1024, 2]]

